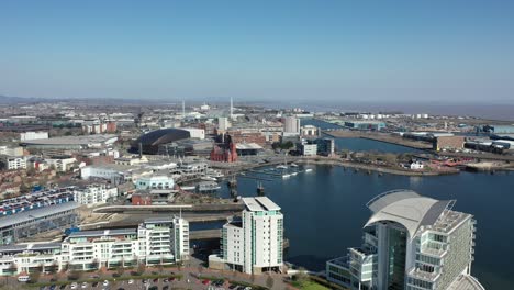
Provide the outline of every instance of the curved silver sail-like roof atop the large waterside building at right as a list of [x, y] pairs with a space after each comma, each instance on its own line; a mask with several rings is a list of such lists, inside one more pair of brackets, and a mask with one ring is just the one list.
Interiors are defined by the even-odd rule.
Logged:
[[455, 200], [435, 200], [412, 190], [387, 191], [366, 204], [373, 215], [365, 227], [377, 222], [396, 222], [403, 225], [413, 238], [421, 226], [433, 225], [446, 209], [451, 209], [454, 203]]

